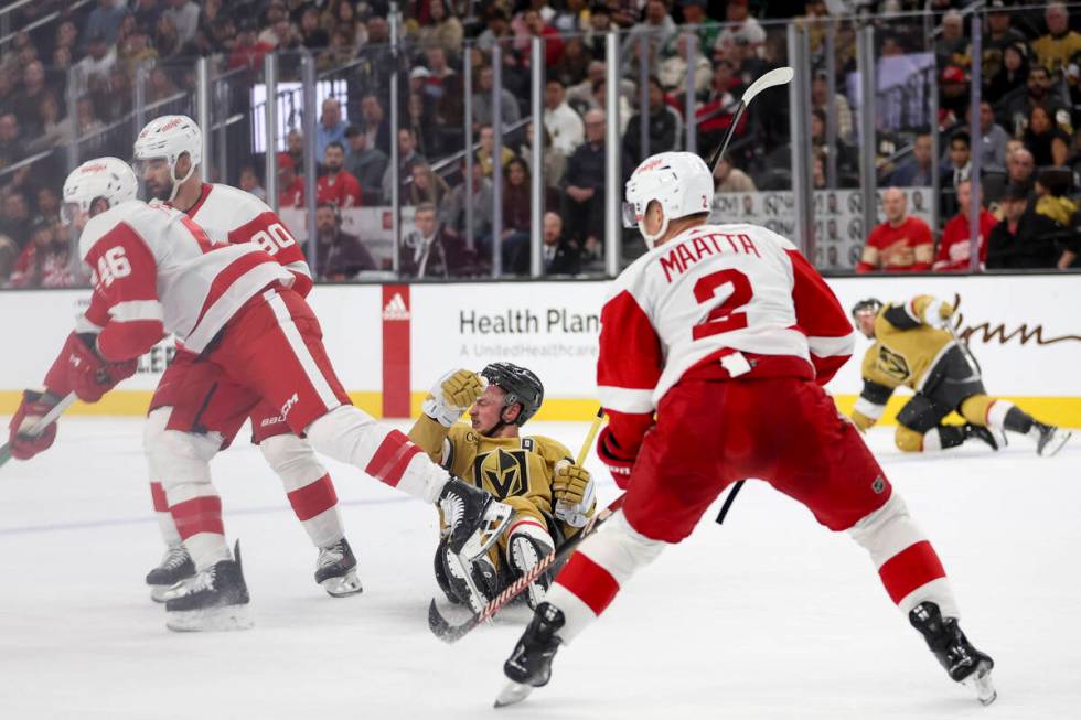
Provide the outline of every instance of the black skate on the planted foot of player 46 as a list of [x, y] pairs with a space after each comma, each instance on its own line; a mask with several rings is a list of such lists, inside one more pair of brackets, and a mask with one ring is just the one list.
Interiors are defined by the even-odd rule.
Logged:
[[235, 559], [221, 560], [174, 587], [173, 597], [165, 602], [165, 627], [185, 632], [251, 626], [239, 542], [233, 552]]

